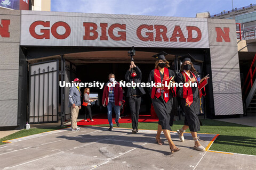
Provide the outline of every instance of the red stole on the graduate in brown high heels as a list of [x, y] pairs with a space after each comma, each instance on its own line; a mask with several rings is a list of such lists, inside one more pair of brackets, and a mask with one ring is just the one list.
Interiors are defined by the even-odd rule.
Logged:
[[[164, 67], [164, 79], [169, 79], [169, 70]], [[158, 70], [158, 67], [154, 70], [154, 80], [155, 83], [161, 83], [161, 75], [160, 75], [160, 71]], [[167, 101], [169, 100], [169, 91], [170, 90], [164, 90], [164, 101], [167, 103]], [[152, 88], [152, 92], [151, 92], [151, 98], [155, 98], [155, 96], [157, 98], [159, 98], [161, 96], [162, 92], [160, 88], [156, 88], [153, 87]]]

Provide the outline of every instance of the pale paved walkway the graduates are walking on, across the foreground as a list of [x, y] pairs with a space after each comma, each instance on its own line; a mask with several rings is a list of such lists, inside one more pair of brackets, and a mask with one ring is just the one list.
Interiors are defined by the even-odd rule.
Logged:
[[[10, 140], [0, 146], [0, 169], [254, 169], [255, 156], [224, 152], [200, 152], [193, 148], [190, 133], [185, 142], [171, 132], [181, 150], [170, 154], [164, 145], [155, 143], [156, 131], [85, 127], [69, 128]], [[198, 134], [209, 148], [216, 134]]]

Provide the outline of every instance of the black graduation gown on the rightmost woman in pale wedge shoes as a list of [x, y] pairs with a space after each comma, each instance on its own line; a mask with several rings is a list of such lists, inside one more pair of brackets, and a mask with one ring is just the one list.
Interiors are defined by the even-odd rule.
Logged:
[[[195, 73], [194, 73], [195, 74]], [[197, 74], [195, 74], [197, 77]], [[191, 76], [190, 76], [191, 77]], [[179, 73], [176, 81], [177, 83], [185, 83], [185, 78], [182, 73]], [[179, 102], [179, 105], [182, 108], [182, 111], [185, 113], [185, 121], [184, 124], [189, 126], [189, 130], [191, 132], [198, 132], [200, 131], [200, 121], [197, 116], [200, 111], [200, 98], [199, 98], [199, 91], [198, 87], [192, 87], [193, 92], [193, 103], [190, 105], [190, 107], [186, 106], [186, 99], [183, 98], [183, 87], [177, 88], [177, 99]]]

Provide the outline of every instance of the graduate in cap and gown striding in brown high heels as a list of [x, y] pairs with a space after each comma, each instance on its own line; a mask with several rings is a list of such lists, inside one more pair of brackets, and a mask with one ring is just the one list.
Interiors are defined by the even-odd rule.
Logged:
[[160, 139], [161, 132], [164, 132], [165, 138], [168, 140], [171, 153], [179, 151], [172, 139], [170, 134], [170, 126], [173, 124], [173, 115], [171, 115], [172, 105], [173, 105], [173, 95], [175, 96], [175, 89], [171, 88], [169, 90], [164, 90], [162, 84], [163, 80], [169, 79], [174, 76], [174, 72], [172, 70], [167, 69], [170, 67], [169, 62], [166, 61], [164, 52], [161, 52], [153, 57], [156, 58], [155, 69], [151, 70], [148, 82], [159, 83], [159, 87], [150, 87], [149, 95], [152, 99], [152, 104], [154, 106], [155, 112], [159, 118], [157, 134], [156, 134], [156, 142], [159, 145], [163, 145], [163, 142]]

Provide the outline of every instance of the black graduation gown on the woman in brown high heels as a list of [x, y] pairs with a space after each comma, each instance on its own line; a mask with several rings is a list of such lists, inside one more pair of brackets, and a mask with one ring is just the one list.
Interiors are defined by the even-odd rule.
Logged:
[[[151, 70], [151, 72], [149, 73], [148, 82], [150, 82], [150, 83], [151, 83], [151, 81], [155, 82], [154, 71], [155, 71], [155, 69]], [[161, 76], [161, 81], [162, 81], [164, 79], [164, 74], [161, 74], [161, 72], [160, 72], [160, 76]], [[169, 77], [172, 77], [172, 76], [174, 76], [174, 72], [172, 70], [169, 70]], [[152, 87], [148, 88], [148, 91], [149, 91], [149, 95], [151, 97]], [[155, 97], [154, 99], [151, 98], [155, 112], [159, 119], [158, 124], [162, 126], [162, 129], [167, 129], [167, 130], [171, 130], [170, 126], [172, 126], [172, 124], [173, 124], [173, 117], [174, 117], [174, 114], [171, 115], [172, 105], [173, 105], [173, 94], [172, 94], [171, 89], [170, 89], [169, 96], [170, 97], [169, 97], [169, 100], [167, 101], [167, 103], [165, 103], [165, 101], [164, 101], [163, 93], [161, 94], [161, 96], [159, 98], [157, 98], [157, 97]]]

